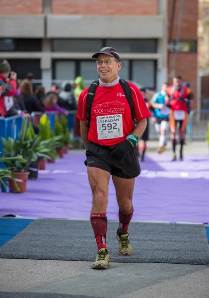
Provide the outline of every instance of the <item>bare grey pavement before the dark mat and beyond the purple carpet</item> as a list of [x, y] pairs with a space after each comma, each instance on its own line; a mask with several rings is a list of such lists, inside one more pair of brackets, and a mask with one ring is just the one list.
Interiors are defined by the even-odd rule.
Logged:
[[[147, 142], [147, 155], [157, 145]], [[208, 155], [209, 147], [206, 142], [188, 143], [184, 152]], [[170, 142], [164, 154], [172, 154]], [[9, 292], [18, 298], [33, 298], [33, 293], [40, 298], [207, 298], [209, 266], [112, 263], [97, 271], [89, 262], [0, 259], [0, 298]]]

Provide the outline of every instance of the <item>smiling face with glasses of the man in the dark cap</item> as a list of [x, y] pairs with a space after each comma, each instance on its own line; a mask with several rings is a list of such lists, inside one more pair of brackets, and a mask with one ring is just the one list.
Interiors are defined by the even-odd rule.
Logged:
[[[115, 57], [107, 54], [99, 54], [97, 61], [103, 61], [102, 65], [97, 64], [97, 72], [104, 83], [111, 83], [118, 77], [118, 71], [121, 69], [121, 63], [116, 62]], [[109, 61], [105, 64], [104, 61]]]

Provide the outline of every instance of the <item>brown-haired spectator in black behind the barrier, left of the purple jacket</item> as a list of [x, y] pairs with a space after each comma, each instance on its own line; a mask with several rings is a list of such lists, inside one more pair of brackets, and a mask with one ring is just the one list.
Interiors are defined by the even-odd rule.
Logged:
[[32, 83], [28, 79], [24, 79], [20, 83], [20, 93], [23, 99], [25, 109], [29, 114], [32, 112], [45, 113], [45, 108], [40, 104], [37, 97], [33, 94]]

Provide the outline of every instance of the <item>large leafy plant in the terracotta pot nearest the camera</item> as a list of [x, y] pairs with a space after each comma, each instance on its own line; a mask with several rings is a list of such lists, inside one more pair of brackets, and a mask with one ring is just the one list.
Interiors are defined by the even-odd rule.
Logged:
[[12, 138], [7, 138], [5, 140], [2, 138], [3, 143], [3, 154], [6, 158], [10, 157], [21, 157], [26, 161], [16, 160], [15, 158], [6, 161], [6, 165], [12, 168], [14, 173], [15, 181], [19, 187], [19, 191], [15, 191], [15, 185], [13, 180], [9, 180], [10, 191], [14, 192], [25, 192], [26, 185], [29, 175], [29, 166], [32, 161], [36, 161], [36, 156], [34, 155], [34, 147], [36, 146], [37, 138], [29, 140], [27, 134], [26, 120], [23, 119], [22, 127], [19, 133], [19, 140], [14, 140]]

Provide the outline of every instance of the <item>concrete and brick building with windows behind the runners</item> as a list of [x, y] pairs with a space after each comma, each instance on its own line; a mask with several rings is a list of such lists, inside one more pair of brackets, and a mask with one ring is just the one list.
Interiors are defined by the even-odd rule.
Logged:
[[47, 89], [52, 80], [96, 79], [91, 55], [112, 46], [121, 53], [124, 79], [154, 90], [181, 74], [197, 94], [198, 0], [0, 3], [0, 57], [19, 78], [33, 72]]

